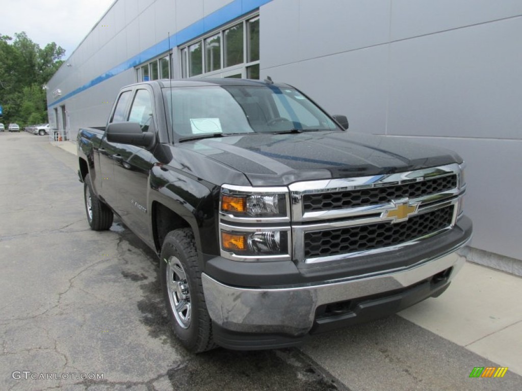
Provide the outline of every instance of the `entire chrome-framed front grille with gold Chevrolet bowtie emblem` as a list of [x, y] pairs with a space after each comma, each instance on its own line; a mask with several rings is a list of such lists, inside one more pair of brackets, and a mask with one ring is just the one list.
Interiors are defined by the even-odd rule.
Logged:
[[289, 189], [293, 258], [316, 264], [394, 250], [452, 228], [466, 186], [455, 163]]

